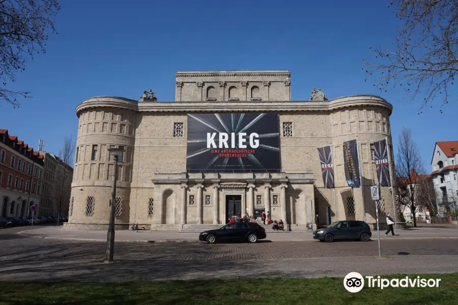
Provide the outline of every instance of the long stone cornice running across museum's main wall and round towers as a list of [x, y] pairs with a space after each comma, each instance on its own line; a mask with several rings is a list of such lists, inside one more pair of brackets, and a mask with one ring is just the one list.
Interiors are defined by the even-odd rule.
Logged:
[[76, 113], [94, 107], [117, 107], [141, 112], [297, 112], [332, 111], [341, 108], [393, 106], [377, 96], [350, 96], [330, 101], [208, 101], [198, 102], [136, 102], [116, 97], [97, 97], [84, 101], [76, 107]]

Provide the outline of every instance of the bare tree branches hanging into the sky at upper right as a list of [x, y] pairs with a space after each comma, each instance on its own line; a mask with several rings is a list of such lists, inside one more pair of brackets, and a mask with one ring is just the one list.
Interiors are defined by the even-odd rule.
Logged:
[[458, 2], [388, 2], [403, 25], [391, 49], [370, 47], [376, 59], [363, 59], [365, 81], [375, 76], [374, 86], [381, 91], [398, 85], [411, 100], [421, 96], [420, 109], [433, 104], [436, 98], [442, 99], [442, 105], [447, 104], [449, 88], [458, 72]]

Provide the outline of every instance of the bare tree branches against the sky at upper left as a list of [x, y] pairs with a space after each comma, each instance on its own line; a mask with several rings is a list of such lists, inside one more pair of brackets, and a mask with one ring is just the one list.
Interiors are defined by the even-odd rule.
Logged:
[[16, 73], [25, 70], [25, 62], [35, 53], [46, 52], [46, 34], [56, 33], [53, 17], [61, 6], [57, 0], [0, 1], [0, 99], [18, 107], [18, 98], [30, 98], [28, 90], [8, 89]]

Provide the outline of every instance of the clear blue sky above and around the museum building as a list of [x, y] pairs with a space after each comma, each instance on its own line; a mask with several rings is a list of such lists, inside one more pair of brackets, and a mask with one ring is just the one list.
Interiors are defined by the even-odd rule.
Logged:
[[[19, 109], [0, 102], [0, 128], [37, 148], [58, 153], [76, 136], [75, 107], [93, 96], [138, 99], [152, 88], [175, 98], [175, 72], [290, 70], [292, 99], [307, 100], [313, 86], [328, 98], [381, 95], [364, 82], [369, 45], [391, 46], [396, 19], [386, 1], [61, 1], [59, 35], [19, 75], [18, 89], [33, 99]], [[456, 96], [456, 92], [455, 96]], [[418, 115], [403, 92], [381, 95], [394, 105], [393, 141], [411, 128], [426, 170], [436, 141], [458, 140], [458, 106]]]

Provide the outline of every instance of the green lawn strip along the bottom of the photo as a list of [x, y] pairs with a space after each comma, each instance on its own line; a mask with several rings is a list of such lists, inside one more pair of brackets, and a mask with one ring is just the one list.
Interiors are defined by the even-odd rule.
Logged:
[[[402, 278], [406, 275], [387, 276]], [[410, 275], [409, 277], [416, 277]], [[458, 273], [422, 275], [442, 279], [439, 288], [345, 290], [343, 279], [256, 279], [124, 283], [0, 282], [0, 304], [458, 304]]]

